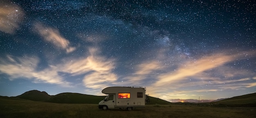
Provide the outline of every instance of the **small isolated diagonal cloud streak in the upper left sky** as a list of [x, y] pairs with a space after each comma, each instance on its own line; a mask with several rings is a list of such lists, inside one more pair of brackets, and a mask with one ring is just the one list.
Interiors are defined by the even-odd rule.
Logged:
[[40, 34], [41, 37], [47, 42], [51, 42], [58, 48], [66, 50], [67, 53], [73, 52], [76, 50], [75, 47], [70, 46], [70, 42], [61, 36], [58, 29], [43, 26], [41, 23], [35, 23], [35, 31]]

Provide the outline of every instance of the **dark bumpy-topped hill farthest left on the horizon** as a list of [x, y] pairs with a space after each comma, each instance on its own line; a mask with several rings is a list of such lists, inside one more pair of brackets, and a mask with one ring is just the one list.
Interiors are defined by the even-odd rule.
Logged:
[[31, 100], [31, 101], [47, 101], [49, 100], [50, 97], [51, 96], [46, 92], [40, 92], [38, 90], [31, 90], [31, 91], [25, 92], [24, 94], [16, 96], [16, 98], [22, 98], [22, 99]]

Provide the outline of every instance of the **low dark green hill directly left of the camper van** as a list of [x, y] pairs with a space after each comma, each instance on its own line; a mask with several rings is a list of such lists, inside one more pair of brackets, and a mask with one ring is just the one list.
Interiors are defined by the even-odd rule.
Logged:
[[72, 104], [98, 104], [106, 96], [93, 96], [78, 93], [61, 93], [52, 96], [47, 102]]

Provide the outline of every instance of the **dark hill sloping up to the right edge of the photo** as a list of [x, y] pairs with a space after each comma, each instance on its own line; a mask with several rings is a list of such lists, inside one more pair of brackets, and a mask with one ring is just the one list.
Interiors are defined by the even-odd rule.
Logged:
[[214, 107], [256, 107], [256, 93], [211, 102]]

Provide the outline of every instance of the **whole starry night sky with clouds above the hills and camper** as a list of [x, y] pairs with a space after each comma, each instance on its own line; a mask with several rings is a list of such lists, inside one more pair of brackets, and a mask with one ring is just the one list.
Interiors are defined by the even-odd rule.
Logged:
[[[0, 0], [0, 95], [256, 92], [253, 0]], [[143, 1], [143, 2], [141, 2]]]

